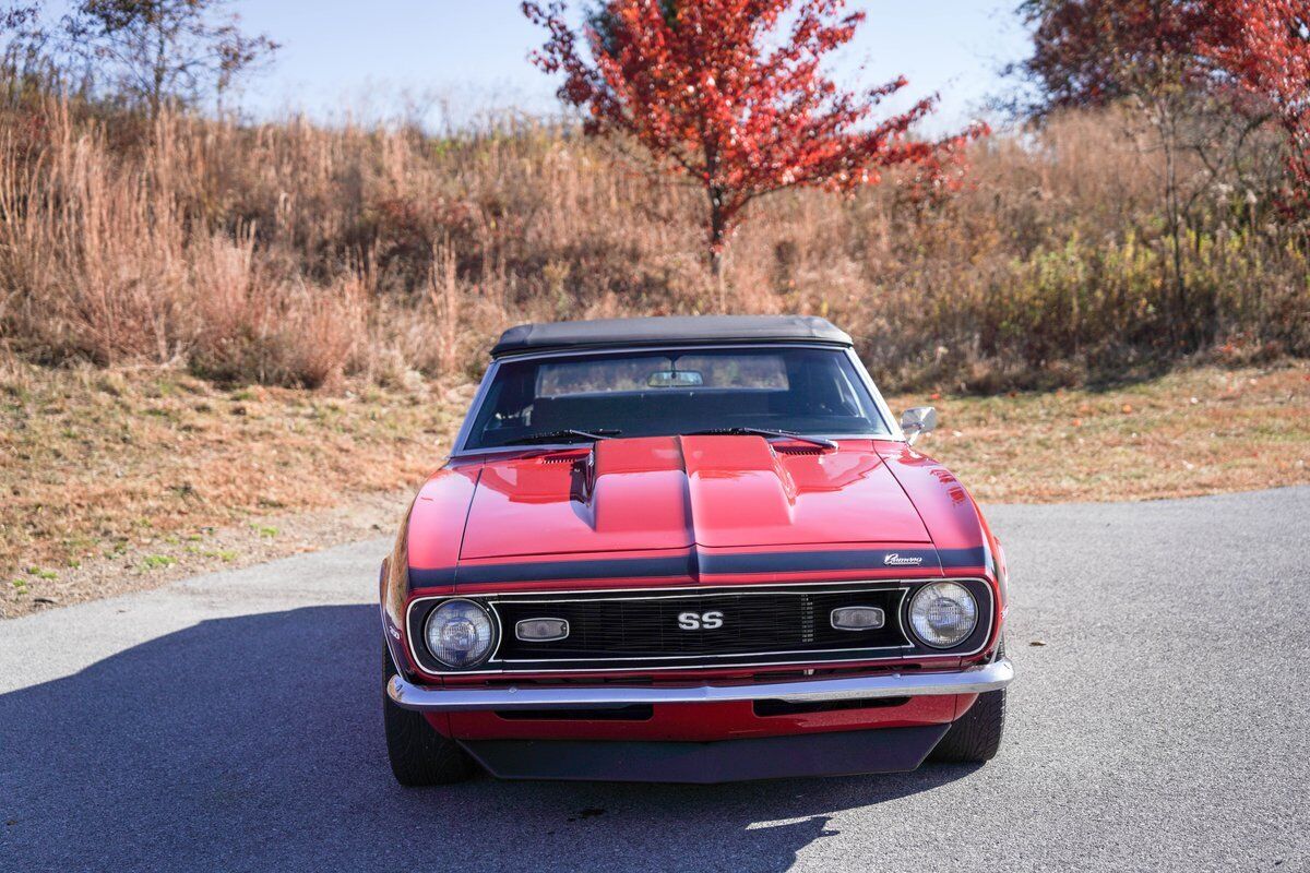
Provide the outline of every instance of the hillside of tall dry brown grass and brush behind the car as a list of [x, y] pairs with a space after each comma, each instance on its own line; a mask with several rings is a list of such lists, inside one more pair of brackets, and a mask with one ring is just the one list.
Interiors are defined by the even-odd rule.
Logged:
[[477, 370], [510, 323], [673, 312], [828, 315], [892, 389], [1310, 351], [1305, 237], [1239, 177], [1210, 186], [1179, 287], [1159, 154], [1114, 114], [985, 140], [942, 202], [896, 178], [761, 200], [717, 283], [701, 194], [567, 130], [149, 126], [39, 96], [0, 113], [0, 332], [39, 363], [394, 386]]

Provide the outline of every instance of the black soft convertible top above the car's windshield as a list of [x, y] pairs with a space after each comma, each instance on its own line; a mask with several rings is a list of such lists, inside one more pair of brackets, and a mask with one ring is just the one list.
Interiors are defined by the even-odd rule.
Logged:
[[700, 346], [806, 340], [850, 346], [850, 336], [814, 315], [667, 315], [519, 325], [500, 335], [491, 357], [570, 348]]

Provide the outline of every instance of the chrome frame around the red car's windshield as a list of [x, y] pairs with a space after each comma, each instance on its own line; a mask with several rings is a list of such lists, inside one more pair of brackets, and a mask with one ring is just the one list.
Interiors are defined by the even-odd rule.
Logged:
[[[478, 410], [482, 408], [482, 403], [486, 401], [487, 391], [491, 383], [495, 381], [496, 373], [500, 370], [502, 364], [519, 363], [525, 360], [550, 360], [557, 357], [591, 357], [591, 356], [604, 356], [616, 353], [639, 353], [639, 352], [662, 352], [668, 351], [669, 346], [625, 346], [620, 348], [587, 348], [587, 349], [562, 349], [552, 352], [524, 352], [523, 355], [507, 355], [491, 361], [487, 372], [482, 376], [482, 382], [478, 385], [477, 393], [473, 395], [473, 401], [469, 403], [469, 410], [464, 416], [464, 423], [460, 425], [460, 432], [455, 437], [455, 448], [451, 450], [451, 458], [469, 458], [486, 454], [504, 454], [504, 453], [517, 453], [517, 452], [550, 452], [558, 449], [576, 449], [578, 442], [552, 442], [552, 444], [520, 444], [520, 445], [495, 445], [485, 446], [479, 449], [468, 449], [469, 437], [472, 436], [473, 421], [477, 419]], [[770, 342], [770, 343], [698, 343], [693, 346], [677, 346], [679, 351], [719, 351], [731, 349], [741, 351], [744, 348], [821, 348], [825, 351], [836, 351], [845, 353], [848, 360], [854, 366], [855, 373], [863, 381], [865, 387], [869, 390], [870, 397], [874, 401], [874, 410], [883, 421], [883, 427], [887, 428], [887, 433], [806, 433], [804, 436], [820, 437], [825, 440], [891, 440], [896, 442], [904, 442], [905, 435], [900, 429], [900, 424], [896, 421], [896, 416], [892, 415], [891, 408], [887, 406], [887, 401], [883, 399], [882, 391], [878, 390], [878, 385], [874, 383], [872, 377], [869, 374], [869, 369], [865, 363], [859, 360], [855, 355], [855, 349], [849, 346], [836, 346], [833, 343], [808, 343], [808, 342]]]

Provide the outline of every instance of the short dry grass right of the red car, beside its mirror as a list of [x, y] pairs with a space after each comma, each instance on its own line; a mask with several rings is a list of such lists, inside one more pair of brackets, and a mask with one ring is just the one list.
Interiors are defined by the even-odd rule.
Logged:
[[1310, 483], [1310, 366], [1200, 368], [1103, 391], [913, 394], [921, 442], [988, 503], [1151, 500]]

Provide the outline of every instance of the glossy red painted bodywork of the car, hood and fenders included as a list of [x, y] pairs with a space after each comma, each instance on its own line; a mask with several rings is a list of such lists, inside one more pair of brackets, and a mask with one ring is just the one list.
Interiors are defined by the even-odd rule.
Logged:
[[[582, 461], [582, 463], [575, 463]], [[579, 472], [579, 469], [582, 472]], [[886, 563], [844, 569], [715, 571], [715, 558], [787, 552], [884, 554]], [[531, 582], [460, 581], [478, 568], [529, 561], [680, 556], [700, 569], [667, 577], [561, 577]], [[937, 555], [920, 564], [901, 554]], [[415, 598], [538, 590], [724, 586], [761, 582], [973, 577], [997, 609], [989, 641], [975, 656], [918, 656], [862, 664], [789, 665], [844, 674], [956, 669], [988, 660], [1005, 619], [1005, 558], [967, 490], [934, 459], [892, 440], [841, 440], [836, 450], [756, 436], [613, 438], [593, 448], [519, 449], [451, 461], [423, 486], [384, 567], [383, 606], [393, 653], [419, 683], [482, 685], [486, 675], [424, 673], [410, 654], [405, 610]], [[782, 668], [779, 668], [782, 669]], [[698, 668], [658, 674], [597, 670], [588, 679], [749, 682], [761, 668]], [[516, 674], [516, 682], [553, 674]], [[493, 712], [434, 715], [460, 739], [624, 738], [710, 741], [945, 724], [976, 695], [912, 698], [899, 705], [757, 716], [749, 703], [664, 704], [645, 721], [507, 720]]]

